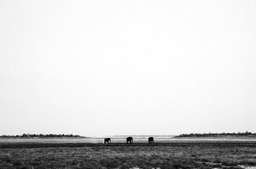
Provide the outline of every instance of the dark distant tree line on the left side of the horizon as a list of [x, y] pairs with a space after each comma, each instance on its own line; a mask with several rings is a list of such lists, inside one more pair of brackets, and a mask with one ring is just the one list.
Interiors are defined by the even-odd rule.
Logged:
[[76, 138], [83, 138], [80, 135], [73, 135], [73, 134], [22, 134], [22, 135], [1, 135], [2, 138], [62, 138], [62, 137], [76, 137]]

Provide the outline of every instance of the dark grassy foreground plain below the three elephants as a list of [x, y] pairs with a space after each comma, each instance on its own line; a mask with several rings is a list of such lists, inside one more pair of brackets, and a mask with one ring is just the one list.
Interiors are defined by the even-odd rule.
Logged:
[[0, 143], [0, 168], [244, 168], [256, 142]]

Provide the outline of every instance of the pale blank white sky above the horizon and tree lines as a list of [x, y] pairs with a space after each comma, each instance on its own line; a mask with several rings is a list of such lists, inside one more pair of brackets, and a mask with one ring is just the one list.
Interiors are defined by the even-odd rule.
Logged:
[[256, 1], [0, 1], [0, 135], [256, 132]]

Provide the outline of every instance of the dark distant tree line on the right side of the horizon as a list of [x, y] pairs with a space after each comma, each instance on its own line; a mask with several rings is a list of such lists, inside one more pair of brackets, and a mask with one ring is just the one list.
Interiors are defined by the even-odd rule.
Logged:
[[256, 133], [251, 132], [238, 132], [238, 133], [190, 133], [190, 134], [180, 134], [175, 137], [227, 137], [227, 136], [248, 136], [248, 137], [256, 137]]

